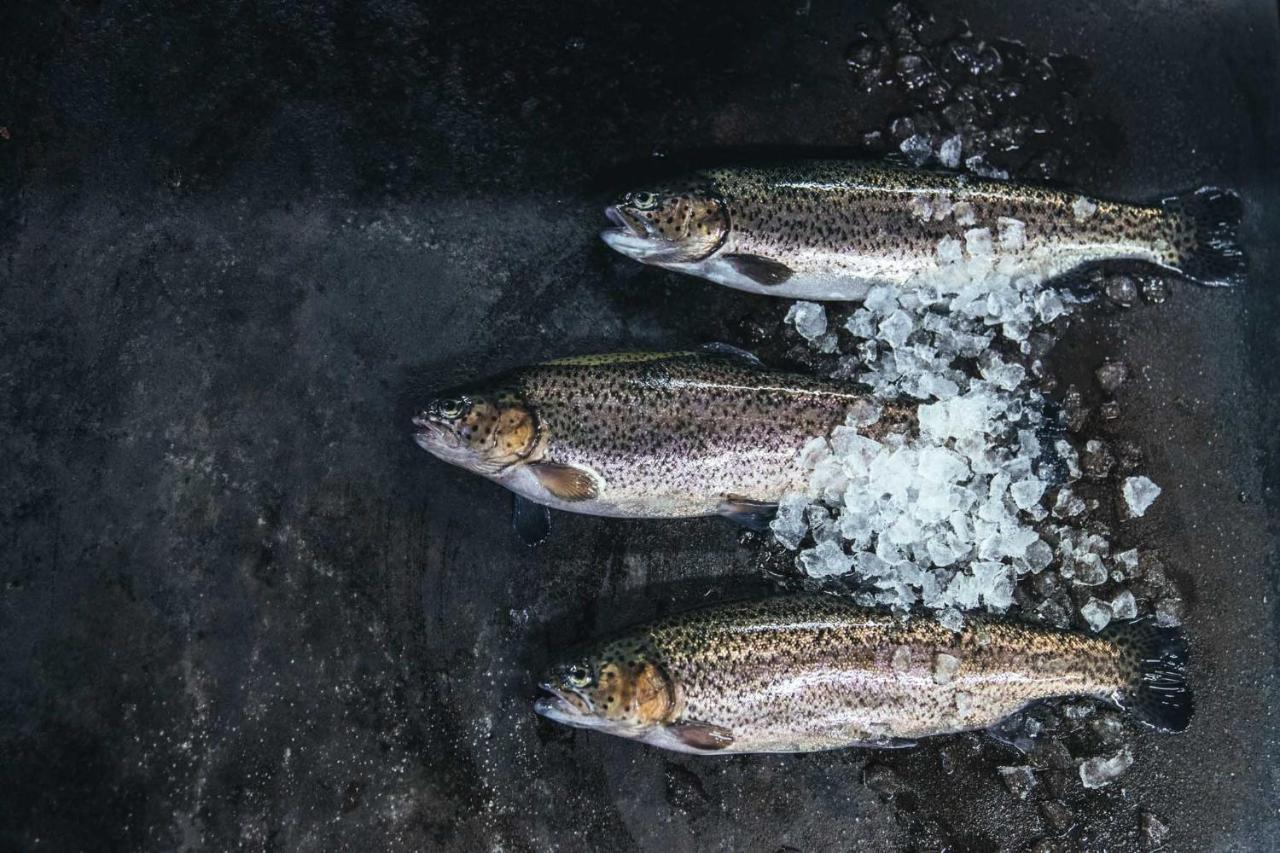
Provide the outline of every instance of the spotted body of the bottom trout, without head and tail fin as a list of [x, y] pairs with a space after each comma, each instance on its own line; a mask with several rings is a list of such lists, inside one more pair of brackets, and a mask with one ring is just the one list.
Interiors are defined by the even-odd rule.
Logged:
[[732, 738], [712, 752], [806, 752], [987, 727], [1037, 699], [1114, 697], [1132, 667], [1097, 637], [982, 621], [956, 633], [831, 596], [691, 611], [595, 657], [657, 667], [671, 699], [645, 722]]

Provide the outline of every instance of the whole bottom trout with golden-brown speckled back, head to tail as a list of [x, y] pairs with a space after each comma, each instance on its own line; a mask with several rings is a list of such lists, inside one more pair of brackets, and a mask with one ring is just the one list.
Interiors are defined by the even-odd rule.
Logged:
[[552, 667], [535, 710], [695, 753], [884, 747], [986, 729], [1038, 699], [1096, 697], [1161, 729], [1190, 715], [1185, 643], [1140, 624], [1084, 635], [799, 596], [691, 611]]

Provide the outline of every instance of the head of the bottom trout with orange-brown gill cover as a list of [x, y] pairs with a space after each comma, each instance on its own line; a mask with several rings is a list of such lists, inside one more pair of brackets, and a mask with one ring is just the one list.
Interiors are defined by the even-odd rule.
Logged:
[[673, 684], [641, 639], [621, 639], [571, 654], [547, 670], [547, 695], [534, 711], [548, 720], [623, 738], [645, 738], [668, 722]]

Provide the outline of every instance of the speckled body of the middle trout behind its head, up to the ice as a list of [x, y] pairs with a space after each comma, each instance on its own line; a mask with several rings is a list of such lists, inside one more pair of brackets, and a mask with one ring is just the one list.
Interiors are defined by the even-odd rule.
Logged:
[[[768, 502], [804, 491], [800, 448], [867, 400], [847, 386], [698, 352], [552, 362], [511, 380], [545, 435], [534, 459], [599, 479], [591, 507], [563, 508], [604, 515], [710, 515], [727, 494]], [[900, 415], [868, 434], [909, 420]]]

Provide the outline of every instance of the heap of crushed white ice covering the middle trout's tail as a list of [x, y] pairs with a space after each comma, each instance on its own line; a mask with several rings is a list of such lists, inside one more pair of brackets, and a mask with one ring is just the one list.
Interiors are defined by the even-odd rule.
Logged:
[[[972, 224], [961, 204], [922, 205], [922, 216]], [[872, 288], [846, 321], [854, 345], [837, 375], [869, 386], [878, 401], [916, 401], [919, 428], [876, 429], [883, 411], [873, 403], [803, 450], [808, 492], [782, 501], [772, 529], [792, 549], [812, 534], [797, 555], [806, 575], [852, 573], [864, 603], [923, 603], [954, 628], [964, 611], [1002, 612], [1020, 576], [1055, 562], [1073, 584], [1108, 579], [1110, 544], [1069, 524], [1084, 503], [1055, 471], [1079, 478], [1079, 465], [1068, 442], [1042, 446], [1044, 400], [1033, 383], [1032, 334], [1074, 300], [1046, 288], [1039, 270], [1014, 256], [1021, 247], [1023, 224], [1012, 219], [995, 233], [945, 238], [934, 273]], [[797, 302], [787, 320], [815, 350], [837, 348], [823, 306]], [[1133, 491], [1139, 515], [1152, 492]], [[1052, 544], [1042, 538], [1050, 530]], [[1084, 619], [1101, 626], [1130, 607], [1132, 597], [1098, 601]]]

